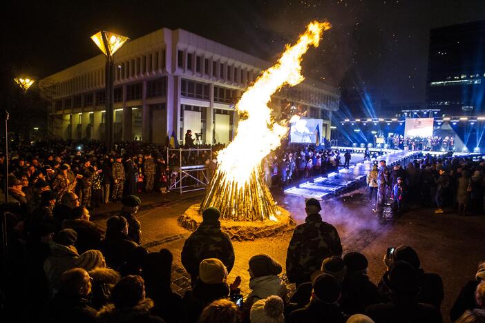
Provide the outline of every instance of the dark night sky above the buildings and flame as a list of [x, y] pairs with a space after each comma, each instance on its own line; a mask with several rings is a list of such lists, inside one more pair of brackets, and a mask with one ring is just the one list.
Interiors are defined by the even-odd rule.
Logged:
[[274, 61], [308, 22], [327, 20], [303, 75], [408, 103], [425, 100], [430, 28], [485, 19], [485, 1], [8, 0], [2, 11], [1, 63], [37, 79], [98, 55], [89, 37], [102, 28], [132, 39], [183, 28]]

